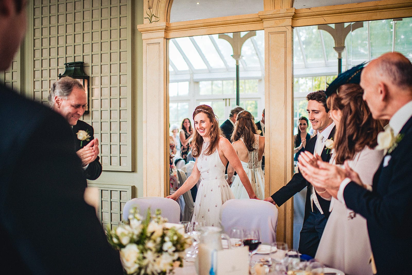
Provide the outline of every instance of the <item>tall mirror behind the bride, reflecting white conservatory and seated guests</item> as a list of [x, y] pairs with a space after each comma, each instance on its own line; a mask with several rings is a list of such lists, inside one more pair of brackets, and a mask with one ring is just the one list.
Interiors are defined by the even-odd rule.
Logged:
[[[255, 122], [265, 109], [265, 41], [263, 30], [180, 37], [169, 40], [170, 192], [193, 168], [192, 114], [201, 104], [213, 108], [219, 125], [236, 106]], [[240, 50], [240, 52], [239, 52]], [[238, 70], [238, 73], [236, 72]], [[178, 175], [181, 170], [183, 178]], [[192, 189], [196, 198], [196, 188]]]

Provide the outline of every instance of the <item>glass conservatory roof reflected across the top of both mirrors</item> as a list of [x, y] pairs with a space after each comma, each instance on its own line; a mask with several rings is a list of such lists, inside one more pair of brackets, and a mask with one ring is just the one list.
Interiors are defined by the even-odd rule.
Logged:
[[[346, 36], [342, 71], [388, 51], [399, 51], [412, 60], [411, 29], [411, 18], [363, 22], [363, 27]], [[246, 33], [241, 33], [241, 37]], [[244, 42], [239, 66], [242, 79], [264, 77], [264, 46], [263, 30], [257, 30]], [[337, 75], [338, 55], [334, 47], [332, 35], [318, 30], [318, 26], [294, 28], [294, 76]], [[232, 46], [218, 34], [173, 38], [169, 41], [170, 82], [234, 79], [236, 61], [232, 54]]]

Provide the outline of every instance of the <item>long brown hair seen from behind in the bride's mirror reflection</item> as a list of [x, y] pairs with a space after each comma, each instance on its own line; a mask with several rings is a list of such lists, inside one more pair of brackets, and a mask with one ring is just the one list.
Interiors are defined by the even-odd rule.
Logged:
[[255, 124], [255, 118], [248, 111], [241, 111], [237, 114], [236, 124], [234, 125], [232, 142], [243, 137], [243, 142], [248, 151], [253, 151], [253, 143], [255, 142], [255, 135], [258, 134], [258, 128]]

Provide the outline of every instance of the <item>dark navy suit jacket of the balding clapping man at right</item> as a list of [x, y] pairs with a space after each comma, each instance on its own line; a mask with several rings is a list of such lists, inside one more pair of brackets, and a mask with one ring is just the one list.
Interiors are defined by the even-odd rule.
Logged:
[[367, 221], [378, 274], [412, 273], [412, 117], [400, 134], [373, 177], [372, 192], [349, 182], [343, 193], [346, 206]]

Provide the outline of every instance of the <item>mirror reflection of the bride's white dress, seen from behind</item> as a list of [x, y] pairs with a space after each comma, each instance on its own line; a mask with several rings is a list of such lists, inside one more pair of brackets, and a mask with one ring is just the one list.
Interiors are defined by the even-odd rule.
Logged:
[[[241, 139], [243, 142], [243, 139]], [[258, 198], [263, 200], [265, 198], [265, 174], [262, 170], [262, 160], [258, 161], [258, 149], [259, 149], [259, 135], [255, 135], [255, 143], [253, 144], [253, 151], [249, 151], [248, 162], [243, 162], [243, 170], [245, 170], [246, 175], [248, 175], [250, 184], [252, 184], [253, 191]], [[245, 186], [243, 186], [240, 181], [239, 176], [233, 180], [232, 192], [235, 198], [249, 198], [248, 192], [246, 192]]]

